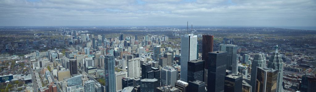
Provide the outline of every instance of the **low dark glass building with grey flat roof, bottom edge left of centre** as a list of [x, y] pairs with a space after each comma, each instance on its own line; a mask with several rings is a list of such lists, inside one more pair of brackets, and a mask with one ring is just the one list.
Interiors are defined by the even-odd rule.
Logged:
[[157, 79], [142, 79], [140, 80], [140, 91], [141, 92], [155, 92], [155, 89], [159, 87]]

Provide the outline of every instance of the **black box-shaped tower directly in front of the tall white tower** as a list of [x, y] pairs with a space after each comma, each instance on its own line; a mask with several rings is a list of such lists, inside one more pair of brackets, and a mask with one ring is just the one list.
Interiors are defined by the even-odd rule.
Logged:
[[204, 60], [191, 60], [188, 62], [188, 81], [204, 81]]

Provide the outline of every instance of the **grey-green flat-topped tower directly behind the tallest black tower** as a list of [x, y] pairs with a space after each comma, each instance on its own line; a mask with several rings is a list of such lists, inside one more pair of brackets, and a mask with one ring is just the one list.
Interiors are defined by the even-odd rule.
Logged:
[[237, 65], [238, 65], [238, 57], [237, 57], [237, 45], [232, 44], [220, 44], [220, 51], [227, 51], [227, 62], [226, 62], [226, 70], [231, 70], [232, 73], [238, 74]]

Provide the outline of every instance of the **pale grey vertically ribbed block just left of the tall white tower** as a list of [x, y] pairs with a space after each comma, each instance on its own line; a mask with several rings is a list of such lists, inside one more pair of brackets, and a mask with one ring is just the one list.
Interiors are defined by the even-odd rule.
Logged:
[[161, 69], [161, 85], [171, 85], [174, 87], [174, 83], [177, 81], [177, 70], [171, 66], [166, 66]]

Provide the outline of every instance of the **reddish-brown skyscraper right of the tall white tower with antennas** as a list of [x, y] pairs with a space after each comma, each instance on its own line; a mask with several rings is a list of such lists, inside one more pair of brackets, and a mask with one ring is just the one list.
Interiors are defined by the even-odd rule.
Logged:
[[[203, 35], [202, 38], [202, 60], [209, 60], [209, 52], [213, 52], [213, 35]], [[205, 69], [208, 68], [208, 62], [205, 62]]]

